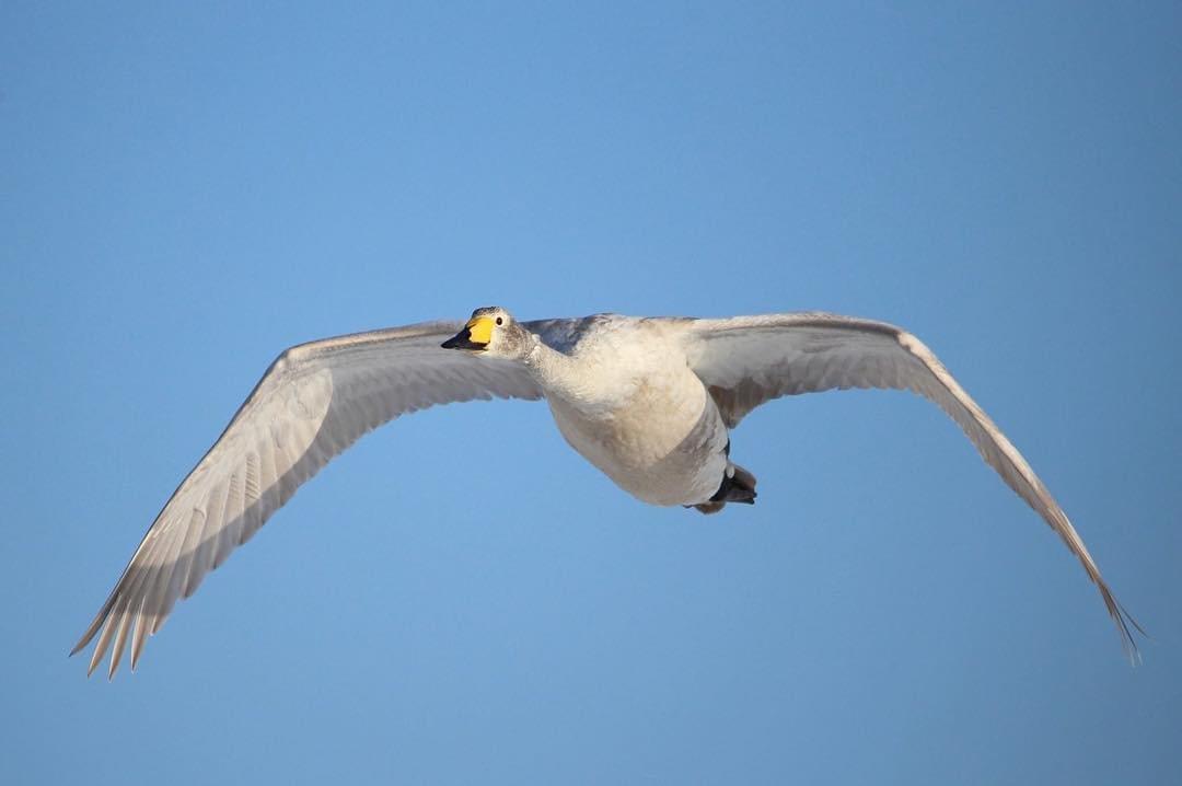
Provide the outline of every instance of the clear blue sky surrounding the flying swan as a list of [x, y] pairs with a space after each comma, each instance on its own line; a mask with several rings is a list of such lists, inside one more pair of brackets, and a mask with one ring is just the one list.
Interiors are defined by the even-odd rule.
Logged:
[[[1182, 782], [1178, 4], [169, 5], [0, 6], [0, 781]], [[417, 414], [66, 658], [281, 349], [489, 304], [907, 326], [1144, 665], [897, 392], [756, 411], [712, 518]]]

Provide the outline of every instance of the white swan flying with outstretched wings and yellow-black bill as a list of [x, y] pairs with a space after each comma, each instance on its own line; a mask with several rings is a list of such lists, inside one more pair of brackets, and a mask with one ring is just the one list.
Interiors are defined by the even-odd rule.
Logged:
[[570, 446], [621, 488], [652, 505], [715, 513], [755, 501], [755, 478], [730, 461], [729, 429], [772, 398], [845, 388], [908, 389], [939, 404], [1079, 558], [1136, 657], [1131, 628], [1141, 629], [1066, 514], [910, 333], [819, 312], [518, 323], [500, 307], [478, 308], [467, 324], [356, 333], [280, 355], [169, 498], [71, 655], [98, 635], [89, 673], [113, 645], [113, 677], [130, 637], [135, 670], [177, 598], [193, 595], [300, 483], [400, 415], [476, 398], [545, 398]]

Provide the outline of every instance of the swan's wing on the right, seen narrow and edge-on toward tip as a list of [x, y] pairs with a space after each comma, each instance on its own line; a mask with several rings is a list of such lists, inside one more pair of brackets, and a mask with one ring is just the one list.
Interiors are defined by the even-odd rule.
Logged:
[[1099, 587], [1130, 657], [1132, 629], [1066, 513], [1018, 448], [1006, 439], [948, 369], [920, 339], [886, 323], [819, 312], [671, 321], [690, 366], [714, 397], [728, 427], [780, 396], [847, 388], [911, 390], [935, 402], [965, 430], [993, 467], [1054, 530]]

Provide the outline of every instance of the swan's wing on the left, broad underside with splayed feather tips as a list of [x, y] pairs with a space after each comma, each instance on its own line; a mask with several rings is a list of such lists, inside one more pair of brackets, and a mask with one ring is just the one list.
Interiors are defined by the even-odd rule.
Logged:
[[296, 489], [395, 417], [474, 398], [539, 398], [517, 364], [440, 347], [462, 323], [428, 323], [294, 346], [275, 359], [181, 482], [71, 655], [98, 635], [92, 673], [130, 637], [131, 668], [177, 598], [246, 543]]

